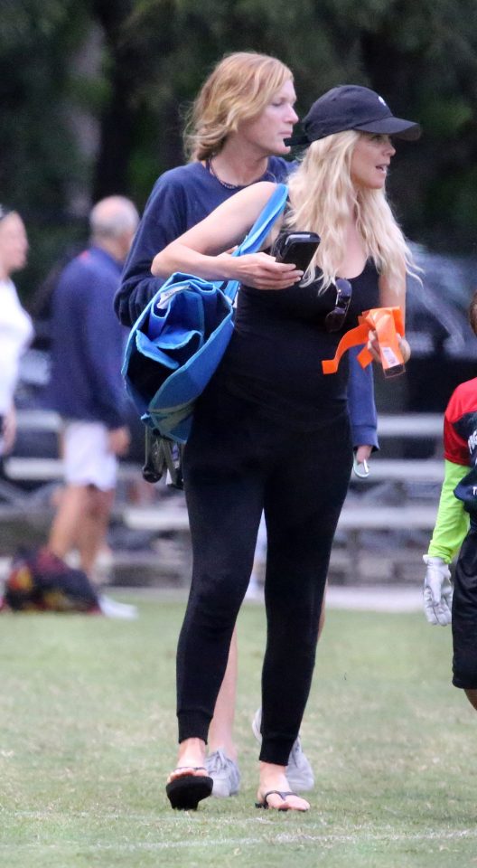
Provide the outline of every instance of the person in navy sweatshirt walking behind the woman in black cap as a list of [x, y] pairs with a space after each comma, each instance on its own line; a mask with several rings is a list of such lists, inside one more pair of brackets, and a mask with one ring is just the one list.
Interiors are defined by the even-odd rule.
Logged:
[[[285, 81], [289, 92], [272, 99], [266, 130], [257, 133], [253, 118], [257, 106], [264, 104], [263, 94], [275, 95]], [[247, 98], [239, 109], [234, 105], [238, 90]], [[286, 181], [296, 165], [285, 159], [290, 147], [284, 141], [298, 119], [294, 106], [292, 73], [275, 58], [236, 52], [211, 72], [194, 102], [186, 131], [190, 162], [165, 172], [154, 184], [126, 260], [115, 298], [117, 316], [124, 325], [134, 324], [163, 282], [151, 274], [151, 262], [159, 250], [249, 184]], [[357, 460], [362, 462], [378, 446], [376, 409], [370, 368], [363, 372], [355, 358], [351, 362], [349, 401], [353, 444]], [[236, 682], [234, 631], [229, 665], [209, 731], [206, 764], [215, 796], [227, 797], [239, 789], [233, 739]], [[257, 712], [253, 727], [258, 738], [259, 717]], [[313, 770], [299, 739], [290, 753], [287, 776], [298, 791], [313, 788]]]

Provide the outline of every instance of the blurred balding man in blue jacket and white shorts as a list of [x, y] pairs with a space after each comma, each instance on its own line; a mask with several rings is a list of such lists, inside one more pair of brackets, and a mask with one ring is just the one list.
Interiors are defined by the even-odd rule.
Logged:
[[[91, 244], [62, 270], [52, 297], [44, 403], [61, 415], [66, 486], [48, 544], [60, 558], [76, 548], [91, 579], [108, 532], [117, 457], [130, 439], [120, 373], [126, 333], [112, 304], [138, 221], [136, 206], [123, 196], [96, 203], [89, 215]], [[112, 617], [134, 614], [104, 596], [100, 601]]]

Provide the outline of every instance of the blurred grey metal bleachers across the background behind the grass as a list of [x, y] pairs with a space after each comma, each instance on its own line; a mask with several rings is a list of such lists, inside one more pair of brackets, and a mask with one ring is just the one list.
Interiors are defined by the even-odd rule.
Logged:
[[[60, 420], [51, 412], [20, 411], [18, 425], [54, 432], [58, 431]], [[416, 557], [420, 558], [425, 551], [423, 546], [435, 524], [444, 477], [442, 429], [443, 420], [438, 414], [379, 417], [382, 454], [372, 457], [367, 479], [351, 476], [341, 513], [332, 555], [332, 573], [337, 580], [371, 581], [379, 574], [382, 578], [403, 580], [407, 566], [416, 570]], [[401, 447], [412, 442], [426, 443], [430, 457], [389, 458], [388, 453], [393, 450], [385, 446], [392, 442]], [[0, 522], [16, 519], [38, 524], [39, 515], [43, 521], [50, 521], [51, 492], [60, 483], [58, 455], [5, 458], [5, 479], [0, 481]], [[138, 496], [138, 489], [147, 494]], [[183, 496], [171, 495], [162, 482], [151, 490], [142, 481], [141, 467], [137, 464], [120, 464], [114, 520], [117, 528], [124, 528], [122, 536], [127, 535], [129, 540], [135, 533], [158, 541], [177, 536], [182, 547], [188, 545], [189, 524]], [[120, 530], [117, 539], [121, 539]], [[117, 557], [120, 558], [119, 552]], [[137, 560], [141, 561], [139, 550]], [[126, 561], [134, 561], [134, 551]], [[379, 573], [380, 561], [383, 566]]]

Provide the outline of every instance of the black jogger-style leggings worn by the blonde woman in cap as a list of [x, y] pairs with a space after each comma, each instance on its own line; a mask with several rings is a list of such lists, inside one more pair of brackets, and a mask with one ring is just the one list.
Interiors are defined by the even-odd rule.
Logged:
[[179, 741], [207, 741], [262, 509], [267, 648], [260, 759], [286, 765], [313, 675], [332, 538], [351, 473], [348, 414], [299, 434], [231, 396], [202, 401], [184, 453], [192, 585], [177, 652]]

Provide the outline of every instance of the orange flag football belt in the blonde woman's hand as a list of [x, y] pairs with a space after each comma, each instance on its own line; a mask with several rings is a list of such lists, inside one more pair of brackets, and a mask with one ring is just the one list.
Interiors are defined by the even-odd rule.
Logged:
[[[404, 337], [404, 322], [400, 307], [372, 307], [364, 310], [358, 317], [359, 325], [351, 328], [346, 335], [341, 337], [334, 358], [325, 359], [322, 362], [323, 373], [336, 373], [341, 362], [342, 354], [351, 346], [359, 346], [368, 343], [369, 331], [376, 332], [379, 341], [379, 354], [386, 376], [397, 376], [404, 371], [404, 359], [397, 342], [397, 335]], [[372, 362], [369, 349], [364, 346], [358, 354], [358, 361], [362, 368], [366, 368]]]

